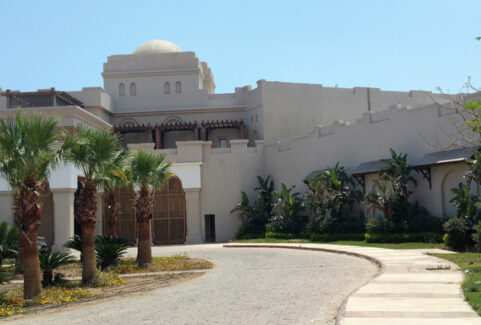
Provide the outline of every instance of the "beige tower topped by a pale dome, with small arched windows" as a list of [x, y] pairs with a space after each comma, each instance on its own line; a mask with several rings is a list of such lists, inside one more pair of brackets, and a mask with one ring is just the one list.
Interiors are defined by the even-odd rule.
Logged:
[[195, 106], [215, 90], [208, 64], [165, 40], [145, 42], [132, 54], [109, 56], [102, 76], [116, 112]]

